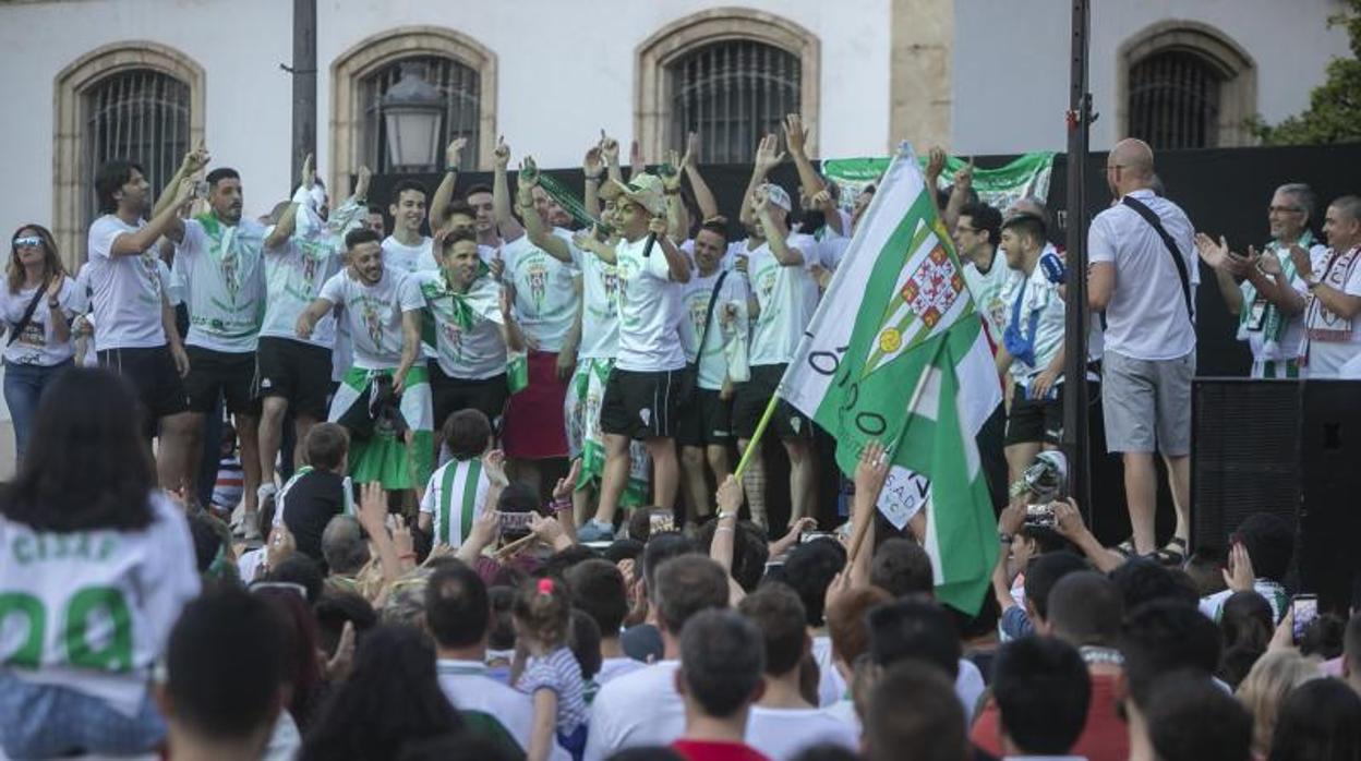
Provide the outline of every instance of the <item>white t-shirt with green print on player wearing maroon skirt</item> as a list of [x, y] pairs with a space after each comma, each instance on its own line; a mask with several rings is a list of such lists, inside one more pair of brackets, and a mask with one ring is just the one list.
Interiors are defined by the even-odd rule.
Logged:
[[[572, 242], [572, 233], [562, 227], [554, 236]], [[529, 242], [529, 236], [501, 246], [505, 282], [514, 286], [514, 310], [520, 329], [539, 342], [539, 351], [555, 354], [577, 316], [577, 294], [572, 279], [576, 268], [558, 261]]]

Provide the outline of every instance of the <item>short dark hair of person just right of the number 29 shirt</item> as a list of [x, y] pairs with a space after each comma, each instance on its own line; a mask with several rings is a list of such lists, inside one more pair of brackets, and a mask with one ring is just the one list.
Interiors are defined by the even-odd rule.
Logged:
[[211, 739], [267, 730], [282, 708], [284, 636], [280, 614], [241, 589], [186, 604], [166, 645], [173, 720]]

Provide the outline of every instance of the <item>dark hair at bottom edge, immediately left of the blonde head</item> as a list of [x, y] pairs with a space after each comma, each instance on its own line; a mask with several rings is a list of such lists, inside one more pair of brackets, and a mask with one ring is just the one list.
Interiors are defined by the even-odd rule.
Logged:
[[1229, 693], [1190, 671], [1158, 679], [1146, 715], [1161, 761], [1243, 761], [1252, 757], [1252, 715]]

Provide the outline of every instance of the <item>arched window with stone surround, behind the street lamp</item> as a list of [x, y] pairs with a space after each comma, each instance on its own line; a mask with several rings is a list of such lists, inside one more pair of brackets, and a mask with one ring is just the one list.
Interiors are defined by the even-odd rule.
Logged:
[[332, 166], [327, 172], [332, 188], [348, 188], [361, 165], [374, 172], [388, 169], [381, 98], [401, 76], [403, 64], [444, 94], [441, 140], [448, 144], [455, 136], [468, 137], [464, 167], [491, 167], [495, 54], [452, 29], [399, 27], [361, 39], [331, 64]]

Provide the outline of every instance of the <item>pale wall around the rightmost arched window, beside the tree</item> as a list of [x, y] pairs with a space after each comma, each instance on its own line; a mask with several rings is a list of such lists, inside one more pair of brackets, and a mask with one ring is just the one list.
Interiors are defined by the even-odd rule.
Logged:
[[[1102, 0], [1093, 3], [1090, 86], [1101, 118], [1092, 147], [1116, 133], [1120, 45], [1162, 19], [1198, 20], [1229, 35], [1256, 61], [1258, 112], [1268, 123], [1298, 113], [1335, 56], [1343, 30], [1326, 27], [1337, 0]], [[951, 151], [1064, 150], [1071, 3], [955, 0]]]

